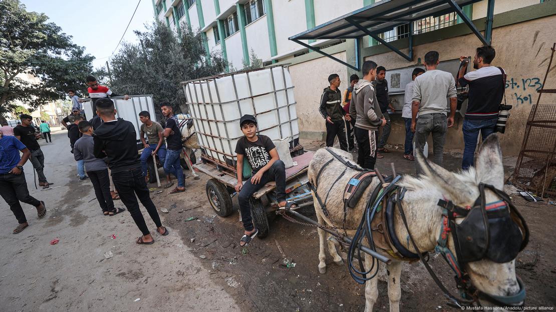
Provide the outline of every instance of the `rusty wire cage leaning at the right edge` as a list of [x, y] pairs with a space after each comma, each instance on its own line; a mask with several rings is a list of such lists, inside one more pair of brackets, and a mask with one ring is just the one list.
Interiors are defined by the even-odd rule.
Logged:
[[[538, 90], [537, 103], [529, 113], [522, 148], [512, 175], [515, 185], [541, 196], [556, 195], [556, 103], [539, 104], [543, 93], [553, 93], [545, 90], [544, 84], [552, 65], [555, 47], [556, 43], [552, 47], [543, 86]], [[549, 96], [552, 96], [551, 100], [554, 97]]]

